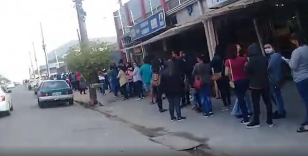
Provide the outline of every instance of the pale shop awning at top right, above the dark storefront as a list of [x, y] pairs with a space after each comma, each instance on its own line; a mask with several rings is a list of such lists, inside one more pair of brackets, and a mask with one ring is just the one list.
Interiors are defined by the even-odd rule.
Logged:
[[219, 9], [215, 9], [213, 11], [209, 11], [202, 15], [201, 19], [207, 19], [215, 16], [220, 16], [229, 13], [230, 11], [234, 11], [237, 9], [243, 9], [247, 8], [253, 4], [256, 4], [258, 2], [265, 1], [265, 0], [240, 0], [237, 2], [234, 2], [232, 4], [226, 5], [224, 7], [221, 7]]

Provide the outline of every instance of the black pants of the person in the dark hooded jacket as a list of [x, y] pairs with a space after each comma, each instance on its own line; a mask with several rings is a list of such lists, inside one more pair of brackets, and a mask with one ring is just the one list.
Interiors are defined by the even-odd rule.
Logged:
[[272, 102], [271, 102], [271, 93], [269, 92], [269, 87], [266, 87], [262, 90], [251, 90], [252, 101], [254, 105], [254, 121], [260, 123], [260, 97], [262, 95], [264, 104], [266, 106], [266, 122], [268, 124], [273, 123], [272, 119]]

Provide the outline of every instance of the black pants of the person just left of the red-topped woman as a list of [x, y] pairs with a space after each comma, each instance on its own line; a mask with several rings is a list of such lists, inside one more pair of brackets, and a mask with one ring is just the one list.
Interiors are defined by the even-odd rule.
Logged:
[[217, 86], [221, 95], [221, 100], [225, 107], [231, 105], [231, 94], [230, 94], [230, 84], [229, 78], [223, 76], [217, 81]]

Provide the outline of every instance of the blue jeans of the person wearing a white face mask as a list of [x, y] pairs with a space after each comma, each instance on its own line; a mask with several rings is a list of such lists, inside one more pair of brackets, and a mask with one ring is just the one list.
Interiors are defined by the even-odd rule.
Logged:
[[280, 88], [277, 87], [274, 84], [271, 84], [271, 94], [274, 97], [273, 100], [275, 100], [274, 102], [275, 102], [275, 104], [277, 106], [278, 114], [284, 115], [285, 114], [284, 101], [283, 101], [283, 98], [281, 96]]

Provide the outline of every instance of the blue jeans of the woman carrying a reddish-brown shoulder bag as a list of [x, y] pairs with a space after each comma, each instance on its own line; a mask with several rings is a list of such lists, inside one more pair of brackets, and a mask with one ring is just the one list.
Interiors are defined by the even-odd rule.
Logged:
[[209, 115], [213, 112], [211, 100], [210, 100], [210, 85], [202, 85], [199, 90], [199, 98], [202, 106], [202, 112]]

